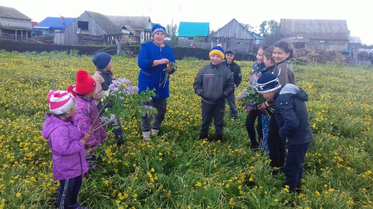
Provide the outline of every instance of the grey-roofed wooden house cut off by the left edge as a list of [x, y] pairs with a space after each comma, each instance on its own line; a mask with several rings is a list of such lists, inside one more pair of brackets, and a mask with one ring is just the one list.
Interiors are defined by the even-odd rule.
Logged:
[[0, 40], [23, 41], [31, 37], [31, 18], [12, 7], [0, 6]]

